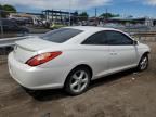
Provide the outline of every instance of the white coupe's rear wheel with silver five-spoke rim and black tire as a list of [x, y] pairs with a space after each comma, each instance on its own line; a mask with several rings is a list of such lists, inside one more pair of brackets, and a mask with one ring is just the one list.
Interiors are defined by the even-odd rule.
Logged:
[[87, 91], [90, 81], [90, 70], [86, 67], [77, 67], [67, 76], [65, 91], [70, 95], [79, 95]]

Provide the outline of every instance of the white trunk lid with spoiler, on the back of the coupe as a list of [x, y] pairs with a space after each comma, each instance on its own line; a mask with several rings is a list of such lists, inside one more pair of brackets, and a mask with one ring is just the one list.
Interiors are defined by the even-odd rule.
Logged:
[[42, 40], [39, 37], [31, 37], [16, 41], [13, 53], [18, 62], [26, 63], [29, 58], [37, 55], [39, 50], [50, 49], [57, 44], [58, 43]]

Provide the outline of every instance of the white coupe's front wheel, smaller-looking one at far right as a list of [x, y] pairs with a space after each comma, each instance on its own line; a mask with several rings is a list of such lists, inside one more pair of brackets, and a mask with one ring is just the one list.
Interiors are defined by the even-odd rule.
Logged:
[[140, 63], [138, 65], [138, 70], [143, 72], [148, 67], [148, 55], [145, 54], [141, 57]]

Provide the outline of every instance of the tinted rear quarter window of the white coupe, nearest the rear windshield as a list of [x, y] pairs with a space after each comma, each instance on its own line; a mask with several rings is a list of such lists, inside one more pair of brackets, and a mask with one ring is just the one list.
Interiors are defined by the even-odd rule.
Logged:
[[106, 42], [106, 35], [104, 31], [100, 31], [96, 32], [92, 36], [90, 36], [87, 40], [84, 40], [82, 42], [82, 44], [98, 44], [98, 46], [102, 46], [102, 44], [107, 44]]

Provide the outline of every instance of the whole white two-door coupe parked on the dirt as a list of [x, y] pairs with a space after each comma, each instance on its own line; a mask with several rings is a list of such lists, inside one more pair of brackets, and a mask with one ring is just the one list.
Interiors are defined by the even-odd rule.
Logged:
[[120, 30], [76, 26], [17, 41], [8, 63], [25, 88], [64, 88], [77, 95], [91, 80], [134, 67], [145, 70], [150, 51]]

